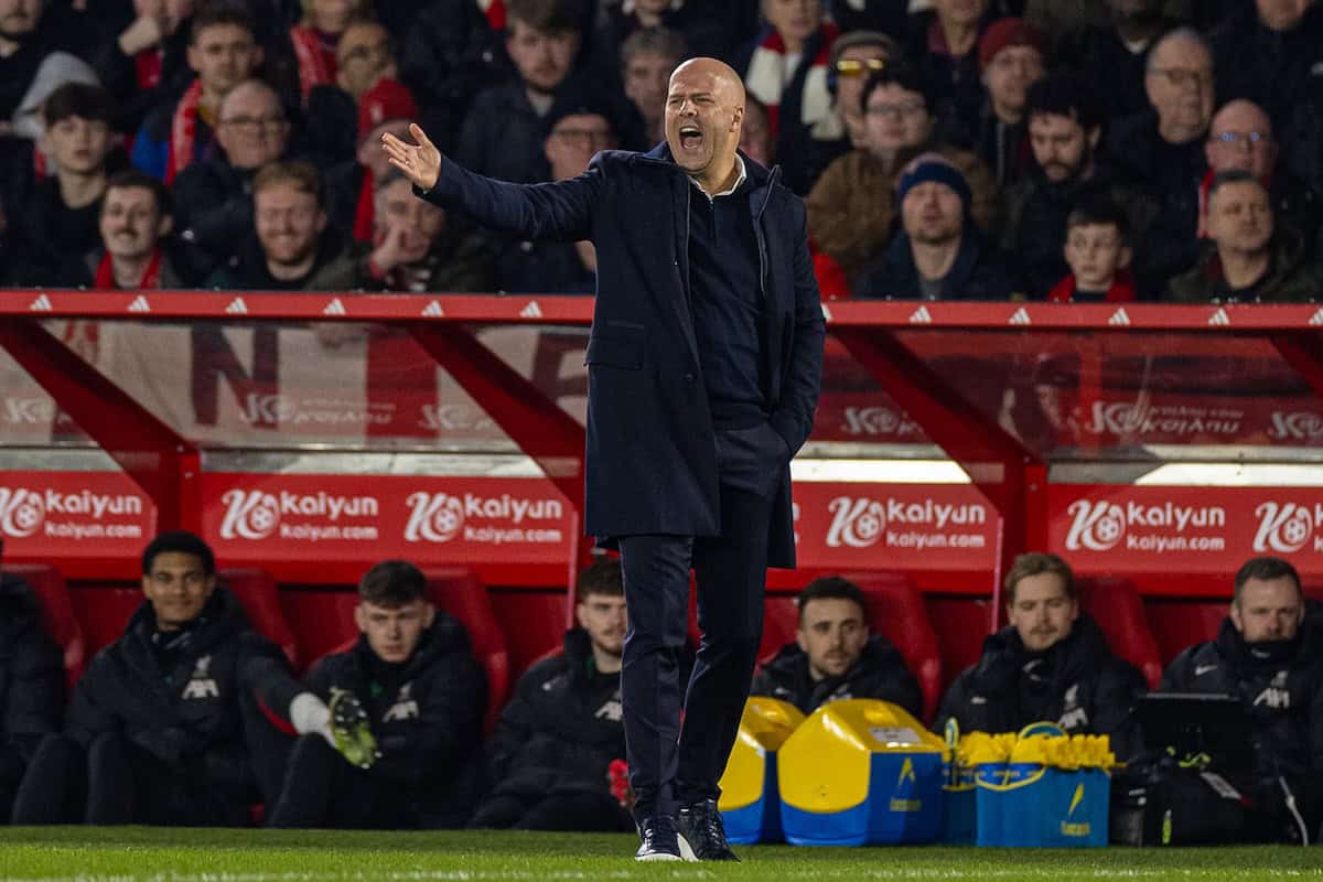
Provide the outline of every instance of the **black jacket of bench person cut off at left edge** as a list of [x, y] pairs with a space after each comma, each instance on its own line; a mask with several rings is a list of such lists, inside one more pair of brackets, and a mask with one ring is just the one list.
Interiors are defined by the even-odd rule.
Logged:
[[60, 731], [65, 666], [22, 579], [0, 574], [0, 792], [16, 787], [41, 738]]

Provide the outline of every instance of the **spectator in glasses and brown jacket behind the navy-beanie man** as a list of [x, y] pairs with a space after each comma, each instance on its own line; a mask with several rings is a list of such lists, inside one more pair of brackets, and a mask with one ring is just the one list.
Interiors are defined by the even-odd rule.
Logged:
[[988, 229], [1000, 209], [996, 182], [978, 156], [934, 136], [933, 95], [913, 70], [896, 66], [864, 85], [864, 147], [823, 172], [808, 194], [808, 231], [853, 283], [892, 239], [901, 169], [923, 152], [941, 153], [970, 189], [970, 213]]

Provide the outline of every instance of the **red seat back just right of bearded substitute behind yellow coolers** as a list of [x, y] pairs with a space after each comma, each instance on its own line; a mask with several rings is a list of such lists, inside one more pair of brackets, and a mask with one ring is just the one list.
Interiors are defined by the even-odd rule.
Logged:
[[843, 573], [864, 590], [868, 621], [905, 657], [923, 692], [923, 722], [933, 719], [942, 697], [942, 653], [927, 619], [923, 595], [904, 573]]

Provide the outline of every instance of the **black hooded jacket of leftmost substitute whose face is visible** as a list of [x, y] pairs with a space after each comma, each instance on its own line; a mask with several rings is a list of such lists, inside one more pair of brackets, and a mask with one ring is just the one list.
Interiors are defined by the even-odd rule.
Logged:
[[179, 631], [157, 631], [144, 600], [78, 681], [65, 729], [83, 747], [119, 733], [246, 807], [258, 780], [245, 722], [257, 719], [259, 705], [283, 715], [299, 692], [280, 649], [217, 586], [201, 615]]

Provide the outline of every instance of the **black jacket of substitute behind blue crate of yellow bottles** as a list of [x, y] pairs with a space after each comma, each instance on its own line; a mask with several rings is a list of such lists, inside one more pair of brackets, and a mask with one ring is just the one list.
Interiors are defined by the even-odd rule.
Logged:
[[1046, 652], [1028, 652], [1015, 628], [983, 641], [983, 657], [942, 698], [934, 731], [955, 718], [960, 731], [1017, 733], [1054, 722], [1068, 734], [1110, 735], [1125, 759], [1139, 748], [1131, 711], [1144, 678], [1111, 655], [1102, 631], [1081, 612], [1070, 633]]

